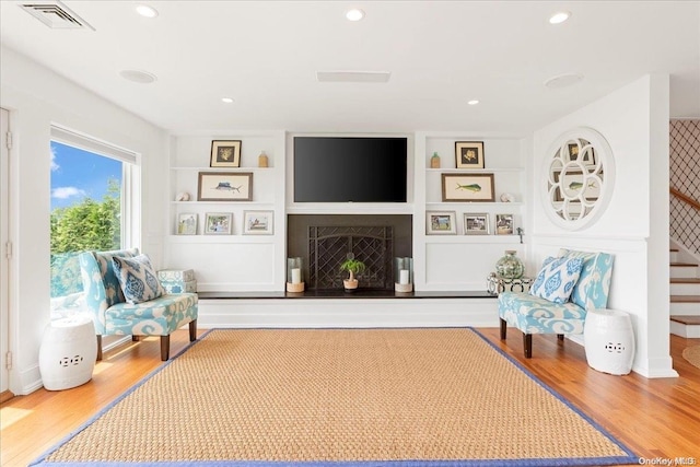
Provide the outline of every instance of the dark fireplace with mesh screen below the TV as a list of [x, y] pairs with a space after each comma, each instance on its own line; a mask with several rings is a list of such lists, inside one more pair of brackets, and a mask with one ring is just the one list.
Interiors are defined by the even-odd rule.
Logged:
[[412, 217], [290, 214], [288, 256], [304, 258], [310, 290], [342, 289], [340, 264], [352, 254], [366, 265], [365, 290], [394, 290], [394, 257], [412, 256]]

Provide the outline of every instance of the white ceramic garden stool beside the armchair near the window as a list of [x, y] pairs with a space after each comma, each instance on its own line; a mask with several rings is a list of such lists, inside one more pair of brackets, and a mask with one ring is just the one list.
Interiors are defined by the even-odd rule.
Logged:
[[55, 319], [46, 326], [39, 348], [39, 372], [46, 389], [69, 389], [88, 383], [96, 359], [97, 338], [90, 316]]

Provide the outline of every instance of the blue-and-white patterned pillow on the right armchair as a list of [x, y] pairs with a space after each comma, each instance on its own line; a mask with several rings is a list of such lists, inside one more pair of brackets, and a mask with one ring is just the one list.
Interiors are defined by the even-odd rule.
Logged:
[[542, 262], [529, 293], [553, 303], [565, 303], [581, 276], [583, 258], [549, 257]]

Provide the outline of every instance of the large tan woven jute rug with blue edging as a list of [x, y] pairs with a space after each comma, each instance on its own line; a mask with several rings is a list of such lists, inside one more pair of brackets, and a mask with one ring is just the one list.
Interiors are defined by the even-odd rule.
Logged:
[[35, 465], [638, 459], [472, 329], [217, 329]]

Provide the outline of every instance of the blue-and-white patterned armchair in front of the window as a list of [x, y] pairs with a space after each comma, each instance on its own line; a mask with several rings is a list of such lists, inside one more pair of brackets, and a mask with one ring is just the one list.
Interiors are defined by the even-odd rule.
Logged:
[[[118, 258], [116, 261], [114, 258]], [[137, 248], [113, 252], [85, 252], [80, 255], [80, 269], [85, 293], [85, 308], [92, 313], [97, 334], [97, 360], [102, 360], [102, 336], [124, 335], [138, 340], [140, 336], [161, 337], [161, 360], [170, 358], [170, 336], [179, 327], [189, 324], [189, 340], [197, 339], [198, 299], [196, 293], [159, 294], [164, 291], [151, 271], [148, 257], [145, 279], [140, 280], [130, 272], [121, 272], [122, 260], [138, 261], [143, 258]], [[119, 270], [115, 269], [115, 264]], [[137, 275], [138, 276], [138, 275]], [[125, 296], [120, 279], [127, 278], [129, 299]], [[144, 294], [153, 288], [160, 292]], [[131, 292], [140, 294], [135, 300]], [[152, 296], [156, 297], [152, 297]], [[131, 303], [129, 303], [131, 302]]]

